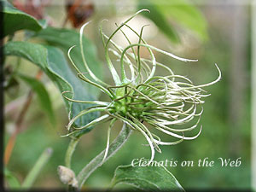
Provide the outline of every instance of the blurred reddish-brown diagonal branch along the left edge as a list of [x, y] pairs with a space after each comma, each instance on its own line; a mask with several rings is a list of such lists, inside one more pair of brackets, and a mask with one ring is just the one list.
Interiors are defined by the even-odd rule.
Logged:
[[[43, 74], [43, 72], [41, 70], [39, 70], [36, 75], [36, 79], [41, 79], [42, 74]], [[7, 166], [9, 163], [9, 158], [12, 154], [13, 148], [15, 147], [16, 137], [21, 130], [24, 118], [26, 116], [26, 112], [32, 102], [33, 95], [34, 95], [33, 91], [30, 90], [28, 95], [26, 96], [26, 102], [24, 103], [23, 107], [21, 108], [18, 118], [16, 119], [15, 131], [10, 136], [9, 141], [8, 141], [5, 151], [4, 151], [3, 162], [4, 162], [5, 166]]]

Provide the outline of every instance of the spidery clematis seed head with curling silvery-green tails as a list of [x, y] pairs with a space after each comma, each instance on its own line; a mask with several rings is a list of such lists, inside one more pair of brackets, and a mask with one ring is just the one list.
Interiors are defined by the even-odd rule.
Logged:
[[[86, 78], [84, 73], [81, 73], [79, 68], [76, 67], [70, 56], [70, 51], [73, 47], [68, 50], [68, 57], [73, 63], [73, 67], [77, 70], [79, 79], [102, 90], [102, 92], [110, 97], [111, 102], [76, 101], [65, 96], [67, 91], [63, 92], [63, 96], [70, 102], [94, 104], [93, 107], [81, 111], [77, 116], [70, 120], [67, 125], [67, 130], [69, 131], [67, 136], [72, 135], [76, 131], [87, 129], [90, 126], [110, 121], [105, 158], [108, 154], [110, 131], [116, 120], [122, 121], [124, 124], [130, 126], [131, 129], [143, 134], [151, 148], [150, 162], [154, 160], [154, 151], [157, 150], [160, 152], [160, 145], [173, 145], [181, 143], [183, 140], [191, 140], [198, 137], [201, 133], [201, 127], [194, 137], [186, 137], [184, 133], [194, 130], [199, 124], [201, 113], [203, 111], [201, 108], [201, 104], [203, 103], [202, 98], [209, 96], [206, 95], [207, 91], [202, 90], [202, 88], [215, 84], [221, 79], [221, 72], [216, 65], [218, 69], [218, 79], [208, 84], [194, 85], [191, 80], [181, 75], [174, 74], [165, 64], [157, 62], [153, 50], [179, 61], [197, 60], [184, 59], [147, 44], [143, 39], [143, 28], [145, 26], [141, 28], [140, 32], [136, 32], [127, 24], [129, 20], [133, 19], [143, 11], [148, 10], [143, 9], [138, 11], [135, 15], [132, 15], [120, 26], [117, 26], [117, 29], [109, 37], [102, 32], [102, 26], [100, 27], [102, 43], [105, 49], [105, 57], [108, 63], [108, 68], [113, 76], [114, 85], [106, 84], [101, 79], [98, 79], [96, 74], [92, 73], [90, 67], [86, 63], [82, 40], [84, 26], [88, 23], [84, 24], [80, 30], [80, 49], [84, 60], [84, 66], [86, 67], [90, 78], [93, 80]], [[131, 41], [126, 36], [125, 32], [122, 31], [122, 27], [127, 27], [131, 32], [137, 35], [137, 44], [131, 44]], [[117, 32], [122, 32], [129, 43], [125, 49], [113, 42], [113, 36]], [[148, 49], [148, 53], [151, 57], [150, 60], [140, 56], [141, 47]], [[128, 51], [130, 49], [131, 51]], [[121, 70], [120, 76], [115, 70], [115, 67], [113, 67], [113, 62], [109, 57], [110, 52], [118, 57]], [[155, 76], [154, 74], [157, 67], [164, 68], [169, 75]], [[129, 68], [130, 71], [130, 78], [128, 78], [127, 75], [127, 68]], [[94, 112], [102, 112], [102, 116], [92, 120], [82, 127], [73, 127], [75, 120], [85, 114]], [[178, 140], [175, 142], [163, 142], [160, 137], [154, 133], [154, 130], [176, 137]]]

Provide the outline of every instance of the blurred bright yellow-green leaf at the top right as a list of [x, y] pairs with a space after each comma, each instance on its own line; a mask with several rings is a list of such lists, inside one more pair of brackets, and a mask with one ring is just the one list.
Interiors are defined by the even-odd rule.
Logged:
[[[201, 39], [201, 41], [207, 40], [207, 20], [201, 11], [197, 9], [189, 0], [146, 0], [143, 3], [138, 3], [139, 9], [149, 9], [150, 14], [146, 16], [153, 20], [156, 26], [159, 26], [160, 30], [164, 32], [173, 42], [177, 42], [173, 33], [168, 34], [167, 26], [168, 20], [172, 20], [175, 25], [188, 28], [195, 35]], [[171, 27], [171, 26], [170, 26]], [[175, 31], [172, 28], [172, 31]]]

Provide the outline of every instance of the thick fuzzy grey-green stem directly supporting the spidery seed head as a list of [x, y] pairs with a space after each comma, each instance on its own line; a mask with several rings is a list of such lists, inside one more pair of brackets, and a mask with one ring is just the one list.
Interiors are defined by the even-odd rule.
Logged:
[[103, 163], [105, 163], [110, 157], [113, 156], [113, 154], [115, 154], [119, 150], [119, 148], [121, 148], [124, 145], [124, 143], [130, 137], [130, 135], [131, 135], [131, 128], [129, 128], [127, 125], [124, 124], [122, 130], [119, 132], [118, 137], [116, 137], [113, 143], [111, 143], [111, 145], [109, 146], [108, 155], [106, 159], [102, 162], [105, 154], [105, 150], [103, 150], [93, 160], [91, 160], [89, 164], [84, 166], [81, 172], [79, 172], [79, 175], [77, 177], [79, 182], [79, 189], [83, 187], [84, 182], [92, 172], [96, 171], [96, 169], [99, 166], [102, 166]]

